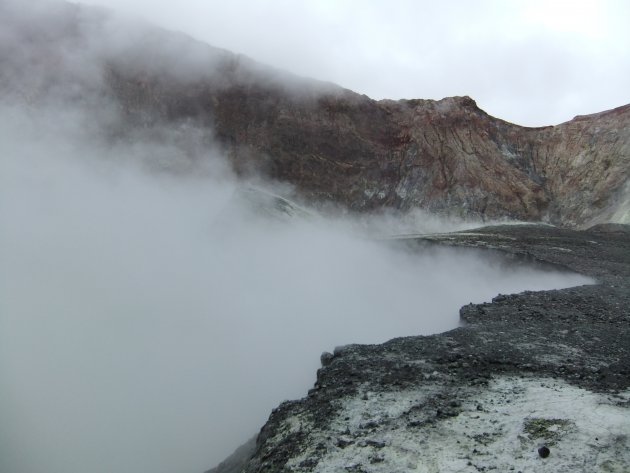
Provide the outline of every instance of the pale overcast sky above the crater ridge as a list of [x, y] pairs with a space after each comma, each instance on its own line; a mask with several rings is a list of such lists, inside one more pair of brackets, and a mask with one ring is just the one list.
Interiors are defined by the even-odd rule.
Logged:
[[557, 124], [630, 102], [630, 2], [84, 0], [373, 98]]

